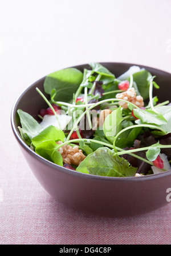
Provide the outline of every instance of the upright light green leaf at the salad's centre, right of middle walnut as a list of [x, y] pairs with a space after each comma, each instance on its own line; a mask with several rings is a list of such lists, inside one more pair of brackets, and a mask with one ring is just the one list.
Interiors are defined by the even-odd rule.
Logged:
[[121, 122], [123, 121], [121, 107], [112, 111], [109, 114], [103, 124], [103, 132], [109, 141], [112, 141], [112, 136], [121, 131]]

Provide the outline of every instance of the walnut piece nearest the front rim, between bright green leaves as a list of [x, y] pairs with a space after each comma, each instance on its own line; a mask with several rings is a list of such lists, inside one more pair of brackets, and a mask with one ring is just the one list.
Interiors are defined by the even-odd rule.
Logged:
[[[62, 144], [62, 141], [57, 141], [56, 144]], [[79, 166], [79, 164], [86, 158], [83, 154], [82, 149], [76, 145], [71, 147], [70, 145], [63, 145], [58, 149], [60, 154], [62, 155], [62, 159], [64, 163], [74, 164], [75, 166]]]

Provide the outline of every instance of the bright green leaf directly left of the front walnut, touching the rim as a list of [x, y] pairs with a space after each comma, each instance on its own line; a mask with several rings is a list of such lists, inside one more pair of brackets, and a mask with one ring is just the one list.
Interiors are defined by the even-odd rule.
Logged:
[[52, 163], [63, 166], [62, 155], [57, 150], [58, 146], [54, 140], [45, 140], [36, 146], [35, 152]]

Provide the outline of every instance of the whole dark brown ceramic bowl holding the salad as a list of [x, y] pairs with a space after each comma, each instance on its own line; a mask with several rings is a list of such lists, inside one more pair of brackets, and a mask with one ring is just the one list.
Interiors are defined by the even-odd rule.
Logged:
[[[101, 63], [117, 76], [132, 65], [125, 63]], [[138, 65], [140, 66], [140, 65]], [[171, 99], [171, 74], [162, 70], [140, 66], [156, 76], [160, 90], [153, 91], [159, 101]], [[83, 71], [86, 65], [75, 66]], [[18, 131], [17, 109], [30, 113], [36, 119], [38, 109], [46, 103], [36, 92], [43, 91], [44, 78], [36, 81], [19, 96], [11, 112], [11, 127], [21, 151], [36, 179], [58, 202], [88, 215], [123, 217], [144, 214], [168, 204], [167, 188], [171, 187], [171, 170], [162, 174], [113, 178], [82, 174], [57, 166], [32, 151], [21, 139]], [[160, 92], [158, 94], [158, 92]], [[47, 96], [48, 97], [48, 96]]]

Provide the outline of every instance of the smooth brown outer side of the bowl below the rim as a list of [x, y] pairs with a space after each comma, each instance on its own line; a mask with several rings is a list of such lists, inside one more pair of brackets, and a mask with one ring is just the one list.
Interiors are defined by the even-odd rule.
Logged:
[[[88, 215], [123, 217], [144, 214], [168, 204], [166, 190], [171, 174], [149, 175], [148, 178], [100, 178], [54, 168], [22, 153], [42, 187], [53, 198]], [[170, 196], [171, 197], [171, 196]]]

